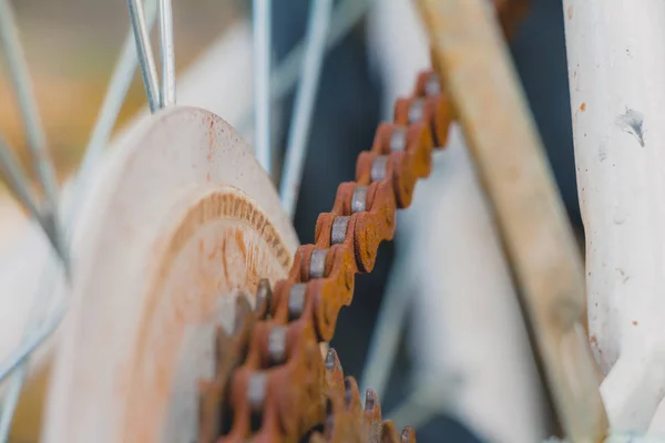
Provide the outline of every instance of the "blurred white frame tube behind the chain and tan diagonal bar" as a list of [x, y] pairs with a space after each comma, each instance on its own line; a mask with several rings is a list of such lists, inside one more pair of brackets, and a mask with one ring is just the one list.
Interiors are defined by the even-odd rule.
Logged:
[[[412, 2], [375, 8], [370, 39], [390, 119], [395, 100], [411, 94], [418, 71], [430, 65]], [[542, 385], [459, 127], [447, 151], [434, 155], [432, 176], [418, 183], [411, 207], [398, 215], [396, 241], [396, 262], [403, 267], [390, 279], [399, 288], [388, 291], [415, 297], [417, 380], [438, 380], [430, 391], [443, 393], [427, 406], [457, 416], [487, 441], [542, 441], [549, 427]]]

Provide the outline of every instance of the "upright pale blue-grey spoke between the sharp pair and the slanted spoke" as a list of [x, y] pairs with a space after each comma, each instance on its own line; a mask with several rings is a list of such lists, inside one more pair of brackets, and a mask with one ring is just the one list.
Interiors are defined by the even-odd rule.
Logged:
[[272, 0], [254, 0], [254, 113], [256, 158], [270, 174], [270, 16]]

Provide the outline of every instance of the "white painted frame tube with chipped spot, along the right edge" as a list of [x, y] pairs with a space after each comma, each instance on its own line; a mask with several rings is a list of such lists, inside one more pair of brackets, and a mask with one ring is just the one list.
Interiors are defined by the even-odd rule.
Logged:
[[645, 431], [665, 394], [665, 1], [563, 7], [591, 343], [611, 425]]

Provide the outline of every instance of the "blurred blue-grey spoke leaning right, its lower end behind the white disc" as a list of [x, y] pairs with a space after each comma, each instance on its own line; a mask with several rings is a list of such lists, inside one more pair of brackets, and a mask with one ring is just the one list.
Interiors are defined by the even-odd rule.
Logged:
[[310, 3], [305, 60], [300, 83], [296, 92], [296, 103], [291, 116], [293, 123], [288, 133], [284, 174], [279, 188], [282, 206], [291, 218], [295, 215], [303, 178], [303, 166], [305, 165], [306, 147], [311, 127], [311, 114], [326, 54], [326, 38], [330, 23], [331, 7], [331, 0], [317, 0]]

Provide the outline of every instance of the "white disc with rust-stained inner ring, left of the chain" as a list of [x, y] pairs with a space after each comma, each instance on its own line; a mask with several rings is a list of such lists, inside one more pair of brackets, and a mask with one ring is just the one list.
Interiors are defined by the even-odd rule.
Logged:
[[235, 289], [284, 278], [298, 245], [269, 177], [226, 122], [172, 106], [137, 127], [82, 206], [45, 442], [195, 440], [214, 327], [232, 328]]

